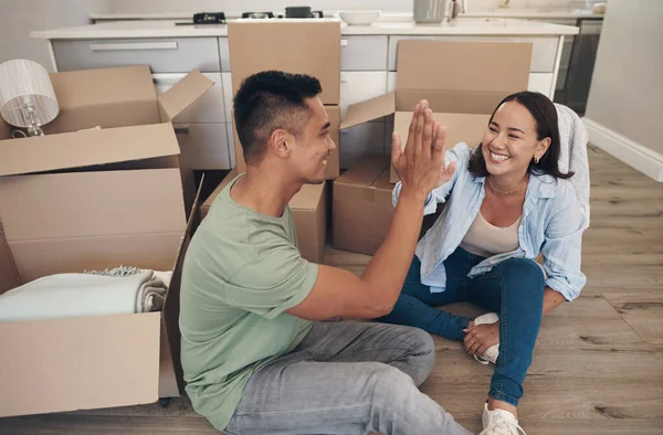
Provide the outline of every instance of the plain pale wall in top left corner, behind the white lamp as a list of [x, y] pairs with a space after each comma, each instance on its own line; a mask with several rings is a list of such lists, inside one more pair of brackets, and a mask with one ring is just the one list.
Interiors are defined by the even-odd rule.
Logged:
[[88, 23], [88, 13], [107, 11], [106, 0], [0, 0], [0, 63], [29, 59], [52, 71], [46, 42], [30, 32]]

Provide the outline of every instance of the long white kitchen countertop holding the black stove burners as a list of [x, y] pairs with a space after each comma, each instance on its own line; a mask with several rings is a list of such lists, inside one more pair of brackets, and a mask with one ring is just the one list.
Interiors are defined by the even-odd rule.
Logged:
[[[339, 21], [338, 19], [323, 20]], [[248, 21], [260, 22], [263, 20]], [[224, 24], [177, 25], [176, 23], [175, 20], [113, 21], [35, 31], [31, 32], [30, 35], [45, 40], [228, 35], [228, 28]], [[442, 24], [415, 24], [412, 21], [378, 21], [371, 25], [347, 25], [341, 23], [341, 33], [344, 35], [572, 35], [578, 33], [578, 28], [503, 18], [461, 18]]]

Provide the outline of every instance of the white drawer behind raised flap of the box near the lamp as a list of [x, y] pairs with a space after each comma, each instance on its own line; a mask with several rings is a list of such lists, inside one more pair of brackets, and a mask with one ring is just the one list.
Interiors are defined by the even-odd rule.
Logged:
[[[158, 94], [168, 91], [172, 85], [179, 82], [186, 74], [152, 74], [155, 87]], [[225, 114], [223, 110], [223, 87], [221, 85], [220, 73], [203, 73], [208, 78], [214, 82], [207, 93], [204, 93], [196, 103], [182, 110], [175, 117], [176, 124], [191, 123], [224, 123]]]

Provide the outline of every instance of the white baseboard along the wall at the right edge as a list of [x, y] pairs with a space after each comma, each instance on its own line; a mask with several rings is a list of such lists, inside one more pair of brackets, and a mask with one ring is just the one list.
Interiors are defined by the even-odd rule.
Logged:
[[657, 182], [663, 182], [663, 155], [646, 148], [608, 127], [582, 118], [589, 142], [617, 157]]

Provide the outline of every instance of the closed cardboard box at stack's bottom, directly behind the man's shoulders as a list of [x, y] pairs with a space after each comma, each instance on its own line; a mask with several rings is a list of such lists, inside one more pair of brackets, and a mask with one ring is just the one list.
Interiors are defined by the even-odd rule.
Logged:
[[[230, 171], [221, 184], [210, 194], [200, 206], [200, 215], [204, 219], [217, 199], [217, 195], [240, 172], [238, 169]], [[297, 231], [297, 245], [302, 256], [312, 263], [322, 263], [325, 255], [325, 240], [327, 236], [327, 206], [326, 184], [304, 184], [302, 190], [293, 197], [290, 209]]]

